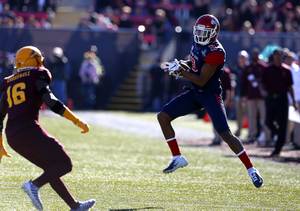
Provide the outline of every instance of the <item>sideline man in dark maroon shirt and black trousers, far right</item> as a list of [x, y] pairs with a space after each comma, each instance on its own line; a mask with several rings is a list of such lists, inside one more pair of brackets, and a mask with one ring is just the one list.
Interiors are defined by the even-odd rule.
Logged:
[[[274, 83], [274, 81], [280, 83]], [[286, 138], [289, 106], [288, 93], [290, 93], [294, 107], [297, 107], [292, 87], [291, 71], [287, 65], [282, 63], [281, 50], [275, 50], [271, 55], [270, 66], [263, 72], [262, 82], [267, 92], [266, 123], [271, 130], [272, 138], [276, 142], [271, 156], [277, 157]]]

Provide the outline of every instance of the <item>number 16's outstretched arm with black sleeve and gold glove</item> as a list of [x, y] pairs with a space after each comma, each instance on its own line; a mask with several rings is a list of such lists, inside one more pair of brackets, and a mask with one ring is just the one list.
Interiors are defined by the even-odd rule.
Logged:
[[87, 123], [79, 119], [67, 106], [65, 106], [60, 100], [58, 100], [49, 88], [46, 81], [37, 81], [37, 90], [42, 96], [43, 102], [55, 113], [65, 117], [73, 122], [77, 127], [81, 129], [81, 133], [89, 132], [89, 126]]

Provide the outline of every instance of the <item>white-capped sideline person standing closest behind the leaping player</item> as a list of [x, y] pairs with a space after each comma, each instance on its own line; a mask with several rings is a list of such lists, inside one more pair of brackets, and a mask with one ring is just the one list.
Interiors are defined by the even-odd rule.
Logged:
[[246, 66], [249, 64], [249, 55], [247, 51], [242, 50], [238, 53], [237, 65], [233, 68], [233, 87], [234, 87], [234, 101], [236, 111], [236, 122], [237, 130], [235, 131], [236, 136], [241, 135], [243, 128], [243, 117], [244, 117], [244, 102], [241, 95], [241, 82], [242, 74], [245, 71]]

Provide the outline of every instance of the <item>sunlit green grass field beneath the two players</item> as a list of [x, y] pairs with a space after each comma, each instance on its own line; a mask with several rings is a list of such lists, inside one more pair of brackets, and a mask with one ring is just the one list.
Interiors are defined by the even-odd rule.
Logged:
[[[170, 155], [163, 141], [98, 126], [81, 135], [62, 118], [41, 122], [73, 160], [68, 187], [80, 200], [95, 198], [93, 210], [300, 210], [299, 165], [255, 159], [265, 179], [256, 189], [237, 158], [185, 146], [189, 166], [164, 175]], [[0, 164], [0, 210], [34, 210], [20, 186], [41, 170], [8, 150], [13, 157]], [[45, 210], [68, 210], [48, 185], [41, 196]]]

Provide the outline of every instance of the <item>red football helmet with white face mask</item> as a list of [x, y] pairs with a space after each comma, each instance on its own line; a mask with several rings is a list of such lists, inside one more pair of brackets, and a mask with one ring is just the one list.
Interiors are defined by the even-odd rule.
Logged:
[[194, 41], [199, 45], [207, 45], [216, 40], [219, 30], [220, 24], [216, 17], [202, 15], [193, 28]]

